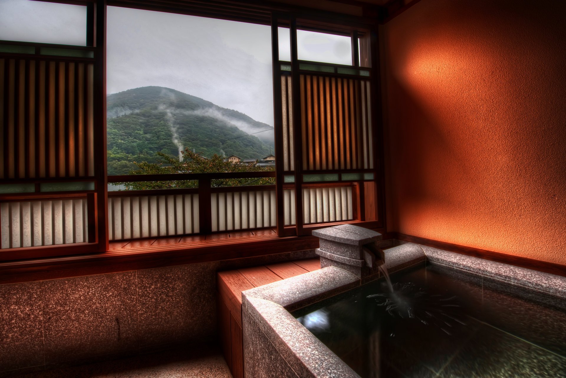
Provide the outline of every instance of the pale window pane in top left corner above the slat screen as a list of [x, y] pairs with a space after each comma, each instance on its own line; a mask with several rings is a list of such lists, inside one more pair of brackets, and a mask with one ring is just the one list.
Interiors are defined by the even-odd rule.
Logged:
[[2, 0], [0, 39], [84, 46], [87, 42], [87, 7]]

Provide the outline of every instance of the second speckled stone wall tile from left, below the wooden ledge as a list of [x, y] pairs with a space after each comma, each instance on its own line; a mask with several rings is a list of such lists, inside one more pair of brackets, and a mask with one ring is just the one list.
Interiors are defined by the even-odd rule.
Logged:
[[138, 348], [136, 272], [42, 282], [45, 363]]

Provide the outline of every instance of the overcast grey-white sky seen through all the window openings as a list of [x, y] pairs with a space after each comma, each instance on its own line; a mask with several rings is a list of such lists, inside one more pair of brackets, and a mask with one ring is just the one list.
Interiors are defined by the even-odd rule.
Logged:
[[[0, 0], [0, 39], [84, 45], [85, 28], [82, 6]], [[299, 59], [350, 64], [349, 37], [297, 40]], [[168, 87], [273, 125], [269, 26], [108, 7], [107, 64], [108, 94]]]

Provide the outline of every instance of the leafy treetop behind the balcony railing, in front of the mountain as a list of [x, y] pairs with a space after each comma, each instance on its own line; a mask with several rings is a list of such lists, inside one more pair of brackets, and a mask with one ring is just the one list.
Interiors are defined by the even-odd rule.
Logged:
[[[183, 160], [171, 157], [163, 152], [157, 152], [159, 158], [156, 163], [134, 162], [139, 169], [129, 172], [130, 175], [161, 175], [168, 173], [220, 173], [220, 172], [268, 172], [275, 171], [275, 167], [258, 167], [242, 163], [227, 162], [216, 154], [207, 159], [195, 154], [188, 148], [182, 151]], [[127, 190], [148, 189], [175, 189], [175, 188], [198, 188], [197, 180], [178, 181], [141, 181], [122, 182]], [[215, 179], [211, 180], [211, 186], [243, 186], [243, 185], [273, 185], [274, 177], [261, 177], [259, 179]]]

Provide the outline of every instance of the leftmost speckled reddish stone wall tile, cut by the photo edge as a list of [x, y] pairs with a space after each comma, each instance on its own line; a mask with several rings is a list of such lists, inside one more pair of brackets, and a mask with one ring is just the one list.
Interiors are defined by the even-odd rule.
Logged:
[[44, 364], [41, 282], [0, 285], [0, 372]]

